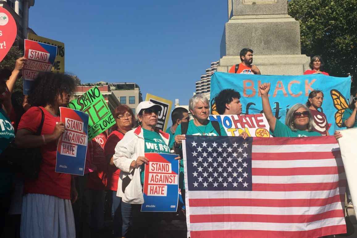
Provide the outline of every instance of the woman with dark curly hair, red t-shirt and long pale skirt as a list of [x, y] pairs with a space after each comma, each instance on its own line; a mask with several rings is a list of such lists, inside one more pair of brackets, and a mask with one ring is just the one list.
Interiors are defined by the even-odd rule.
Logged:
[[[40, 147], [42, 162], [38, 178], [24, 182], [20, 229], [23, 238], [76, 236], [71, 205], [77, 197], [74, 179], [55, 172], [57, 141], [65, 131], [59, 107], [66, 107], [74, 91], [73, 78], [51, 72], [40, 73], [29, 90], [27, 100], [32, 107], [22, 115], [15, 143], [21, 148]], [[42, 113], [41, 133], [36, 135]]]

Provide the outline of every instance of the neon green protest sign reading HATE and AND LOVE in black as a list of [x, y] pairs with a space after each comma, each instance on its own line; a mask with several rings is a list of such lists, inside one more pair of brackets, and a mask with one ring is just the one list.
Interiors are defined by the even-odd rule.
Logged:
[[89, 115], [88, 137], [89, 140], [109, 129], [115, 124], [115, 119], [111, 114], [103, 95], [99, 88], [89, 89], [79, 98], [72, 100], [68, 104], [69, 108], [80, 110]]

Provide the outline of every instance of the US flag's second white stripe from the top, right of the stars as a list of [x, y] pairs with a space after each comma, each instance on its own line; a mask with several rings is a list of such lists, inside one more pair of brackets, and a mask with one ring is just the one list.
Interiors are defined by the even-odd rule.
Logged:
[[252, 160], [252, 168], [301, 168], [343, 166], [342, 159], [322, 160]]

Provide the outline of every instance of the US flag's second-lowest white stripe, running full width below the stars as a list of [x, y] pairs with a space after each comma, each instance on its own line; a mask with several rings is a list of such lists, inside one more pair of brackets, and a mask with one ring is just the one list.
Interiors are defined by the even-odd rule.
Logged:
[[313, 214], [332, 211], [336, 209], [343, 209], [341, 202], [334, 202], [321, 207], [251, 207], [251, 206], [190, 207], [190, 215], [209, 215], [209, 214], [313, 215]]

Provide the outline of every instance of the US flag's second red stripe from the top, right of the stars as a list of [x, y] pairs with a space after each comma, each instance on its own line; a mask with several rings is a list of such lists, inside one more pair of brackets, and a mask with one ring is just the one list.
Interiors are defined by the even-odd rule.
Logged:
[[252, 160], [323, 160], [341, 158], [340, 151], [327, 152], [253, 152]]

